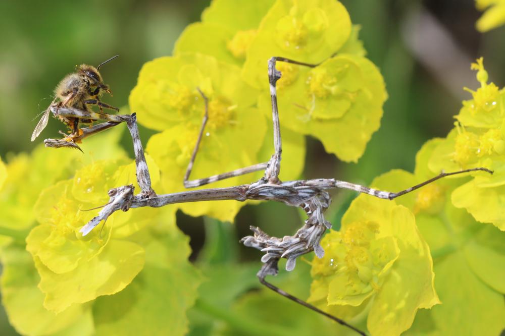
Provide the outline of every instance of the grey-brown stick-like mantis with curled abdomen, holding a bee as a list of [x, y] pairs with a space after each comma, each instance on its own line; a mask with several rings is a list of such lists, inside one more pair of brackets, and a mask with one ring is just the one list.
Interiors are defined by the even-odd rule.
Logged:
[[[283, 202], [290, 206], [302, 208], [308, 218], [302, 226], [294, 235], [284, 236], [283, 238], [271, 237], [261, 229], [257, 227], [250, 227], [254, 232], [253, 236], [247, 236], [242, 238], [241, 242], [248, 247], [254, 247], [265, 254], [262, 257], [262, 262], [264, 263], [257, 276], [260, 282], [276, 293], [293, 300], [307, 308], [310, 308], [320, 314], [327, 316], [328, 318], [362, 334], [365, 333], [356, 327], [348, 324], [347, 322], [330, 315], [315, 306], [300, 300], [276, 286], [265, 281], [267, 275], [276, 275], [278, 272], [278, 262], [280, 258], [287, 259], [286, 270], [291, 271], [295, 267], [296, 258], [310, 253], [315, 252], [318, 258], [323, 257], [324, 250], [320, 245], [320, 241], [325, 234], [327, 229], [331, 228], [331, 223], [324, 218], [324, 211], [328, 208], [331, 198], [328, 194], [328, 190], [341, 188], [350, 189], [360, 193], [369, 194], [382, 199], [392, 200], [398, 196], [407, 194], [414, 191], [422, 186], [429, 184], [435, 180], [441, 179], [445, 176], [456, 175], [461, 173], [467, 173], [471, 171], [484, 171], [491, 173], [491, 171], [485, 168], [475, 168], [468, 169], [453, 173], [441, 173], [440, 175], [433, 177], [432, 179], [425, 181], [421, 184], [415, 185], [411, 188], [393, 193], [381, 190], [371, 189], [365, 186], [352, 184], [345, 181], [339, 181], [335, 179], [311, 179], [311, 180], [297, 180], [282, 182], [279, 180], [281, 154], [282, 154], [282, 142], [279, 127], [279, 115], [277, 108], [277, 96], [276, 96], [276, 82], [280, 79], [281, 73], [276, 70], [276, 62], [287, 62], [299, 66], [315, 67], [316, 65], [310, 65], [306, 63], [296, 62], [293, 60], [273, 57], [268, 62], [268, 77], [270, 83], [270, 95], [272, 99], [272, 120], [274, 129], [274, 153], [268, 162], [258, 163], [248, 167], [244, 167], [238, 170], [227, 172], [220, 175], [211, 176], [204, 179], [189, 180], [191, 174], [191, 169], [193, 162], [195, 160], [198, 146], [201, 141], [205, 126], [208, 120], [208, 98], [197, 89], [200, 95], [205, 101], [205, 114], [203, 118], [203, 123], [201, 125], [199, 135], [194, 147], [193, 153], [191, 155], [190, 162], [188, 164], [186, 174], [183, 179], [184, 186], [186, 188], [198, 187], [213, 183], [219, 180], [224, 180], [230, 177], [235, 177], [239, 175], [244, 175], [257, 171], [264, 171], [264, 176], [251, 184], [245, 184], [240, 186], [232, 186], [227, 188], [213, 188], [213, 189], [201, 189], [195, 191], [185, 191], [172, 194], [161, 194], [157, 195], [155, 191], [151, 188], [150, 176], [145, 161], [145, 156], [143, 148], [140, 142], [140, 137], [138, 133], [138, 127], [136, 123], [136, 115], [131, 116], [112, 116], [106, 114], [95, 114], [91, 116], [91, 113], [87, 111], [81, 111], [75, 108], [58, 108], [52, 107], [53, 114], [61, 116], [70, 116], [75, 118], [93, 119], [93, 120], [107, 120], [107, 122], [102, 124], [97, 124], [95, 126], [83, 129], [83, 134], [81, 138], [90, 136], [94, 133], [100, 132], [102, 130], [114, 127], [120, 123], [126, 122], [130, 134], [133, 139], [133, 147], [135, 152], [135, 163], [137, 172], [137, 182], [140, 186], [141, 192], [134, 195], [133, 185], [121, 186], [109, 190], [108, 194], [110, 196], [110, 201], [107, 203], [102, 210], [99, 211], [98, 215], [92, 218], [86, 225], [84, 225], [80, 232], [83, 236], [87, 235], [93, 228], [95, 228], [102, 220], [107, 220], [107, 218], [113, 214], [115, 211], [121, 209], [127, 211], [130, 208], [138, 208], [143, 206], [150, 207], [161, 207], [168, 204], [174, 203], [184, 203], [184, 202], [199, 202], [199, 201], [211, 201], [211, 200], [272, 200]], [[56, 143], [55, 143], [56, 141]], [[48, 147], [61, 147], [61, 140], [47, 139], [44, 141]], [[72, 147], [65, 145], [65, 147]]]

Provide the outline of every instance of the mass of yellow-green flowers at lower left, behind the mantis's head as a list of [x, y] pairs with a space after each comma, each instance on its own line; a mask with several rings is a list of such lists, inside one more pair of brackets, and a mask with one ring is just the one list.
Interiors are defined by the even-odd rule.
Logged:
[[[86, 209], [106, 204], [108, 189], [136, 181], [135, 163], [117, 145], [120, 136], [117, 128], [89, 139], [82, 144], [86, 155], [40, 146], [8, 160], [1, 195], [11, 206], [2, 211], [0, 230], [11, 244], [0, 251], [2, 298], [20, 333], [110, 334], [113, 326], [124, 334], [132, 330], [130, 321], [147, 320], [153, 330], [187, 330], [185, 309], [199, 276], [187, 261], [188, 240], [175, 226], [174, 207], [116, 212], [101, 233], [99, 227], [86, 237], [79, 233], [97, 211]], [[158, 167], [150, 157], [147, 163], [158, 186]], [[31, 256], [22, 247], [25, 237]], [[177, 291], [163, 292], [167, 283]], [[121, 304], [126, 286], [128, 293], [146, 293], [149, 304], [163, 305], [170, 316], [147, 314], [141, 301]], [[120, 291], [120, 298], [113, 295]], [[167, 297], [148, 293], [178, 299], [167, 304]], [[104, 295], [107, 300], [93, 301]], [[117, 314], [118, 302], [129, 307], [127, 323], [126, 314]]]

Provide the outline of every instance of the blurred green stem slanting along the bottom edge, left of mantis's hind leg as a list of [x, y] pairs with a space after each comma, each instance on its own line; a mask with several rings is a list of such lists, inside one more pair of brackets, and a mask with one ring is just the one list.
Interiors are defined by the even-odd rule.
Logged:
[[198, 299], [194, 305], [196, 309], [204, 312], [210, 316], [227, 322], [233, 328], [240, 330], [240, 334], [247, 335], [278, 335], [290, 336], [292, 332], [288, 329], [279, 327], [278, 325], [268, 324], [265, 322], [258, 323], [258, 321], [245, 318], [236, 314], [232, 309], [223, 309], [208, 302]]

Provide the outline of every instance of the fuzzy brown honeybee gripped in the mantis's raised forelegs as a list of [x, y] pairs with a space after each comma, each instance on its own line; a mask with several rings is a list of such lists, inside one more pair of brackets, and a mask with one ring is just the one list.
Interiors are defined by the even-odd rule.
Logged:
[[[63, 78], [55, 89], [55, 99], [44, 111], [44, 114], [38, 122], [31, 137], [31, 141], [35, 140], [47, 126], [49, 120], [49, 112], [52, 107], [73, 107], [80, 110], [88, 111], [87, 105], [98, 105], [100, 112], [103, 108], [109, 108], [119, 111], [119, 108], [108, 105], [100, 101], [99, 97], [104, 92], [112, 96], [111, 89], [108, 85], [104, 84], [102, 75], [99, 69], [104, 64], [119, 57], [115, 55], [109, 60], [100, 63], [96, 68], [87, 64], [81, 64], [77, 67], [76, 72], [68, 74]], [[90, 119], [79, 119], [58, 116], [58, 118], [70, 129], [70, 135], [65, 135], [65, 141], [74, 141], [74, 137], [79, 135], [79, 122], [84, 124], [92, 123]]]

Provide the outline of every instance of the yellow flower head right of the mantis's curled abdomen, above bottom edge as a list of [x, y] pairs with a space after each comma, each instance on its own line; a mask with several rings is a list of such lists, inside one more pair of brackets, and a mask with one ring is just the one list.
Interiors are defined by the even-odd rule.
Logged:
[[321, 244], [309, 301], [346, 319], [369, 310], [372, 335], [399, 335], [419, 308], [440, 303], [430, 249], [401, 205], [361, 195]]

